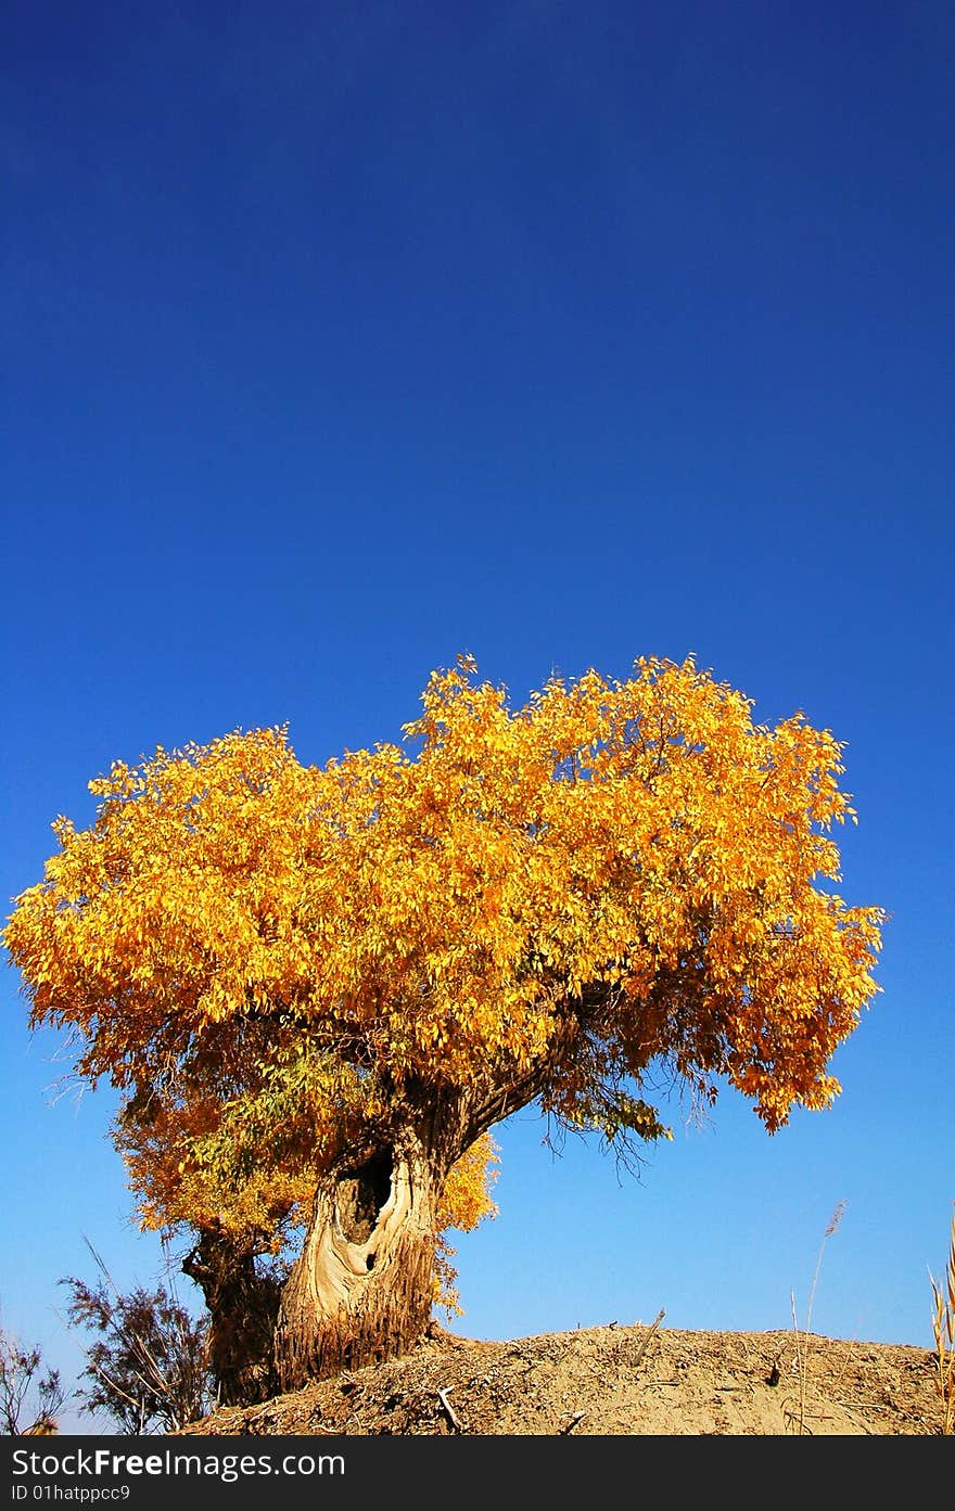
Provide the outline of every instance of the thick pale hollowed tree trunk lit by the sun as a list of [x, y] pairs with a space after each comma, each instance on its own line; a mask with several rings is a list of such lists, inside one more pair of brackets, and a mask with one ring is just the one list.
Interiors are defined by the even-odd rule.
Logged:
[[319, 1185], [275, 1331], [280, 1387], [406, 1354], [435, 1298], [435, 1218], [461, 1148], [423, 1121]]

